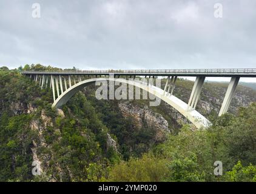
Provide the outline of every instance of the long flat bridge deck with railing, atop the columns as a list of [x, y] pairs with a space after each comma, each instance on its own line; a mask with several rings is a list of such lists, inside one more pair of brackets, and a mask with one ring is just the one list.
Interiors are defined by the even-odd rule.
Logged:
[[31, 75], [136, 75], [136, 76], [207, 76], [207, 77], [256, 77], [256, 69], [166, 69], [166, 70], [61, 70], [61, 71], [27, 71]]

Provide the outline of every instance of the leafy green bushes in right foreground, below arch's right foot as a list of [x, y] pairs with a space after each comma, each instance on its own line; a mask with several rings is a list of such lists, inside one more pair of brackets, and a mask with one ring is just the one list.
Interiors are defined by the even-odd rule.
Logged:
[[[144, 164], [136, 166], [136, 172], [141, 172], [142, 177], [133, 173], [130, 166], [135, 162], [131, 159], [116, 164], [110, 180], [256, 181], [255, 121], [256, 103], [241, 108], [238, 115], [221, 116], [207, 130], [192, 131], [184, 126], [178, 135], [170, 135], [166, 142], [155, 147], [150, 157], [136, 160]], [[168, 170], [157, 170], [157, 175], [149, 176], [144, 169], [152, 167], [150, 161], [161, 163], [158, 167]], [[214, 161], [223, 162], [224, 176], [214, 175]], [[126, 170], [122, 170], [124, 167]]]

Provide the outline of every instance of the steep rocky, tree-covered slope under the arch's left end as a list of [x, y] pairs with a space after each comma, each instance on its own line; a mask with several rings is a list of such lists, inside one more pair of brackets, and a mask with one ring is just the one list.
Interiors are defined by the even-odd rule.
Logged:
[[[0, 181], [97, 181], [120, 161], [107, 149], [108, 129], [82, 93], [62, 117], [51, 109], [51, 91], [18, 72], [1, 70], [0, 85]], [[31, 173], [32, 148], [47, 169], [40, 177]], [[100, 176], [91, 175], [99, 167]]]

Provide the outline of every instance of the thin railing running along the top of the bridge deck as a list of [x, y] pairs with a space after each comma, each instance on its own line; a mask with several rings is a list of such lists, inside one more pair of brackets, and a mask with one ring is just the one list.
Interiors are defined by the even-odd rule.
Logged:
[[256, 73], [256, 69], [54, 70], [21, 73]]

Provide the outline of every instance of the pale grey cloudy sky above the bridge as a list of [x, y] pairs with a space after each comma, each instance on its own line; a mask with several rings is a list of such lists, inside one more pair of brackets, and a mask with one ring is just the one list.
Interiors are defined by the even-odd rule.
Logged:
[[255, 54], [255, 0], [0, 0], [0, 66], [256, 68]]

